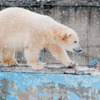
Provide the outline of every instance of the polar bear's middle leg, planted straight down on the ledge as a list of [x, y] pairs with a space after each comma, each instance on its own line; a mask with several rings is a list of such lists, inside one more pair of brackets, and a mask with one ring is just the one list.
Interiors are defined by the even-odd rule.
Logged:
[[28, 65], [30, 65], [34, 70], [40, 70], [45, 67], [46, 64], [39, 62], [39, 52], [40, 49], [35, 47], [26, 46], [25, 48], [25, 57]]

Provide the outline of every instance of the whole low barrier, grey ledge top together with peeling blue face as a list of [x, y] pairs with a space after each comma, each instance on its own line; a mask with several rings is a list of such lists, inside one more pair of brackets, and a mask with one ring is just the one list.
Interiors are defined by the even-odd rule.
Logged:
[[[61, 65], [60, 65], [61, 66]], [[100, 71], [88, 66], [0, 66], [0, 100], [99, 100]]]

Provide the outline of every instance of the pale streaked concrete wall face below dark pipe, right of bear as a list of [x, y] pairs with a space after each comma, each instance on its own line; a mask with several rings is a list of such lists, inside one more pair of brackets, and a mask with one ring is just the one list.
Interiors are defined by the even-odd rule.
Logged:
[[81, 54], [70, 54], [79, 64], [100, 57], [100, 9], [95, 7], [57, 7], [51, 11], [57, 21], [74, 29], [80, 38]]

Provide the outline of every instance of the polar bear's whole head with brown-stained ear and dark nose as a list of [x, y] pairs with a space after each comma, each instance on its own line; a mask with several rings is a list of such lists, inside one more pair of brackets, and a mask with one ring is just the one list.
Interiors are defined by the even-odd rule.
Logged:
[[56, 39], [60, 46], [71, 52], [82, 51], [78, 35], [74, 30], [66, 27], [64, 29], [61, 28], [57, 33]]

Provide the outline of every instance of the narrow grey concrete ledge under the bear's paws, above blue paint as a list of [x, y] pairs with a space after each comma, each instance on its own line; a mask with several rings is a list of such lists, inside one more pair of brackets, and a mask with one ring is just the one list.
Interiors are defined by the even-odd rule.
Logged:
[[47, 65], [42, 70], [33, 70], [28, 65], [19, 65], [14, 67], [0, 66], [1, 72], [32, 72], [32, 73], [59, 73], [59, 74], [73, 74], [73, 75], [100, 75], [100, 71], [96, 68], [79, 67], [67, 68], [62, 65]]

